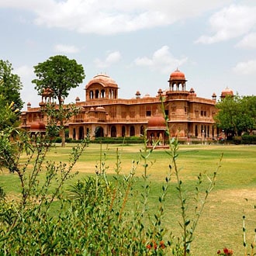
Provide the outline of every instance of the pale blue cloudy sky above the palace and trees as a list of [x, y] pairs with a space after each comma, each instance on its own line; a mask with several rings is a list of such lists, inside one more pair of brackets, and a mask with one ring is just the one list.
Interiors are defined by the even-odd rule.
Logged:
[[255, 0], [0, 0], [0, 31], [25, 108], [41, 100], [34, 66], [55, 55], [85, 69], [65, 103], [85, 101], [97, 74], [116, 81], [121, 99], [155, 96], [176, 69], [199, 97], [256, 94]]

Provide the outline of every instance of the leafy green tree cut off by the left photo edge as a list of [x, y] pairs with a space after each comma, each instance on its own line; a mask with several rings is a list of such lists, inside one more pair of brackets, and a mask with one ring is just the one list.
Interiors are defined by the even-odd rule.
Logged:
[[22, 82], [18, 74], [12, 74], [12, 71], [12, 64], [10, 64], [9, 61], [0, 60], [0, 95], [5, 97], [7, 104], [13, 102], [14, 109], [21, 110], [24, 103], [20, 98]]

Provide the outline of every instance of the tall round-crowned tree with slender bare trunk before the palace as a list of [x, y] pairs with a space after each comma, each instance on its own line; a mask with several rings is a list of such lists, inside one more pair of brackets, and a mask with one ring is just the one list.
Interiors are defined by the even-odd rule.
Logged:
[[71, 88], [76, 88], [85, 78], [85, 71], [81, 64], [75, 60], [70, 60], [66, 56], [56, 55], [47, 61], [39, 63], [34, 67], [37, 79], [32, 82], [36, 84], [35, 89], [39, 95], [47, 88], [52, 90], [54, 99], [58, 101], [58, 121], [60, 123], [60, 133], [62, 146], [65, 145], [64, 136], [64, 99]]

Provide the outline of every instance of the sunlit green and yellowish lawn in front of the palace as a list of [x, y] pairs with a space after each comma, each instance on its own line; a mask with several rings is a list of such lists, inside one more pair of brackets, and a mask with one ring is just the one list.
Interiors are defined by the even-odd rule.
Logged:
[[[82, 154], [74, 171], [79, 174], [74, 179], [81, 179], [85, 175], [94, 175], [96, 166], [99, 168], [100, 158], [105, 162], [106, 172], [109, 175], [115, 173], [116, 148], [121, 161], [121, 173], [127, 175], [130, 172], [132, 161], [140, 161], [141, 145], [100, 145], [90, 144]], [[47, 159], [52, 161], [67, 161], [71, 145], [62, 148], [59, 145], [52, 147]], [[192, 243], [192, 254], [211, 256], [218, 249], [229, 247], [234, 250], [234, 255], [243, 255], [242, 216], [247, 217], [247, 242], [251, 243], [256, 227], [254, 205], [256, 205], [256, 147], [235, 145], [181, 145], [178, 150], [178, 167], [182, 168], [182, 182], [185, 183], [192, 206], [193, 190], [199, 172], [206, 171], [212, 174], [216, 171], [220, 154], [223, 153], [223, 161], [217, 175], [216, 187], [209, 195], [209, 201], [199, 220], [199, 226], [195, 230], [195, 240]], [[170, 160], [164, 150], [154, 150], [148, 162], [152, 166], [148, 170], [150, 182], [150, 210], [154, 212], [158, 196], [161, 195], [161, 185], [168, 173]], [[137, 189], [141, 188], [143, 175], [142, 165], [138, 165], [136, 176], [138, 178]], [[74, 182], [74, 181], [73, 181]], [[19, 181], [16, 175], [7, 171], [0, 174], [0, 186], [9, 197], [16, 197], [19, 193]], [[179, 206], [176, 197], [175, 178], [171, 179], [168, 198], [164, 204], [164, 224], [179, 234]], [[192, 211], [191, 207], [191, 211]]]

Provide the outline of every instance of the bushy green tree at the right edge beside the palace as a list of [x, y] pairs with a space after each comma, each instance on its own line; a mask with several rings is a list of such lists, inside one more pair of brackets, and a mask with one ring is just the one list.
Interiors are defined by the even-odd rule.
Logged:
[[227, 96], [216, 104], [219, 109], [214, 117], [216, 125], [240, 136], [242, 132], [253, 130], [255, 127], [255, 96]]

